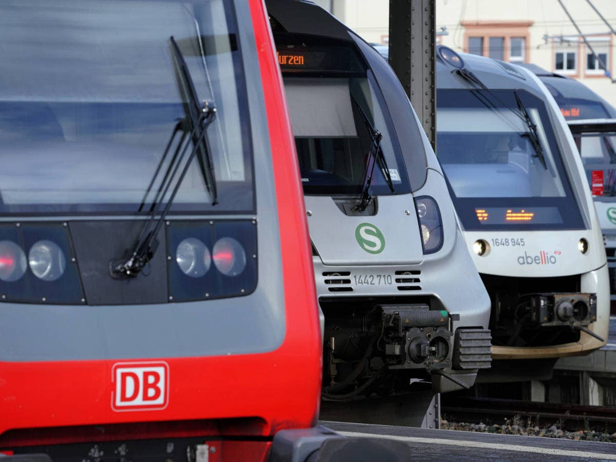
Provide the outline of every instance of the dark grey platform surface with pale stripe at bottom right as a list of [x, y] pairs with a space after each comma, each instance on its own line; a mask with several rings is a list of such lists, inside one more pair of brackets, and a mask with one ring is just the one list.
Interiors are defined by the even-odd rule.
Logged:
[[402, 441], [408, 445], [409, 460], [616, 460], [613, 443], [329, 421], [320, 424], [350, 437]]

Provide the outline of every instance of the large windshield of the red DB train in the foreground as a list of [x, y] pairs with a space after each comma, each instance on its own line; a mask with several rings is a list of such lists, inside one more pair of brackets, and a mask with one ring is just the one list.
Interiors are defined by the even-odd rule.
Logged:
[[171, 36], [199, 102], [217, 107], [207, 138], [219, 198], [212, 206], [196, 157], [171, 211], [252, 211], [236, 31], [224, 0], [1, 2], [0, 213], [136, 213], [151, 203], [189, 103]]

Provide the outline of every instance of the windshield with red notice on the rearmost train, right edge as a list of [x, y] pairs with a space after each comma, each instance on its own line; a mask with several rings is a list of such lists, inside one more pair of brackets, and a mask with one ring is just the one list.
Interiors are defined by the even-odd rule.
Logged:
[[588, 129], [570, 127], [593, 196], [616, 200], [616, 123], [599, 124]]

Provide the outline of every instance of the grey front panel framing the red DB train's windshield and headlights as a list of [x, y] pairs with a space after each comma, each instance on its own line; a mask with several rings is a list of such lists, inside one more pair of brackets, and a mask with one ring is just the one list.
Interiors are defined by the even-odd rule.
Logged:
[[[238, 23], [251, 23], [248, 2], [236, 1]], [[258, 70], [254, 33], [238, 28], [247, 70]], [[246, 79], [254, 177], [272, 178], [269, 131], [261, 79]], [[0, 361], [151, 359], [269, 352], [285, 338], [283, 274], [273, 181], [255, 181], [257, 207], [256, 290], [226, 298], [131, 306], [75, 306], [0, 303]], [[233, 219], [254, 216], [230, 215]], [[91, 221], [92, 216], [20, 217], [19, 221]], [[100, 219], [110, 220], [109, 217]], [[131, 219], [129, 216], [118, 219]], [[221, 216], [169, 216], [218, 220]], [[142, 220], [142, 219], [140, 219]], [[0, 217], [15, 222], [15, 217]], [[95, 243], [92, 243], [95, 245]], [[128, 243], [127, 243], [128, 245]], [[171, 251], [164, 249], [160, 253]], [[175, 253], [175, 250], [172, 251]], [[141, 277], [141, 276], [140, 276]], [[130, 281], [128, 282], [130, 283]], [[238, 302], [241, 300], [241, 302]], [[263, 309], [267, 307], [267, 309]], [[34, 322], [36, 320], [36, 322]], [[10, 328], [7, 328], [10, 326]]]

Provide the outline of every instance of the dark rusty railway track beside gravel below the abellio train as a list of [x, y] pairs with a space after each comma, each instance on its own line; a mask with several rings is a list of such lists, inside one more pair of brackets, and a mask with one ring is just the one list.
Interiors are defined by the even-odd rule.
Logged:
[[616, 407], [441, 395], [441, 415], [460, 422], [496, 424], [520, 416], [524, 419], [521, 426], [531, 418], [533, 426], [559, 424], [569, 431], [616, 431]]

